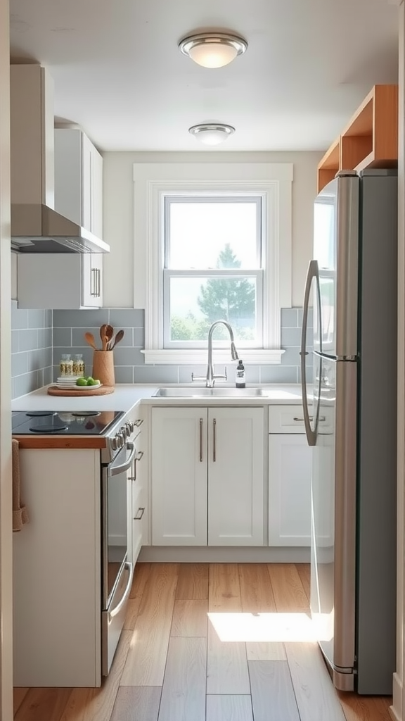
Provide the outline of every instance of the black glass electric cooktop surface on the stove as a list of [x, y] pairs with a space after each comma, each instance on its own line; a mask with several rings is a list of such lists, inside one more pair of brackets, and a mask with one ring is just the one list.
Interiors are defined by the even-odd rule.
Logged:
[[13, 411], [13, 435], [105, 435], [123, 411]]

